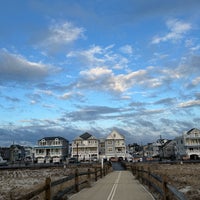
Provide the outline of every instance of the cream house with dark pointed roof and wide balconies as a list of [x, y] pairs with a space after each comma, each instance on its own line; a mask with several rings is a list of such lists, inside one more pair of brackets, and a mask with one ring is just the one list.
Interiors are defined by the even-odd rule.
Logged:
[[84, 133], [72, 141], [71, 156], [78, 161], [99, 159], [99, 140], [90, 133]]

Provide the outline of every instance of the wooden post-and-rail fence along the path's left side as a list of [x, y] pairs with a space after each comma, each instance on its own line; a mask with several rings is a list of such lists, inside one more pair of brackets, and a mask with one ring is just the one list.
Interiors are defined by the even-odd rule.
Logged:
[[73, 174], [56, 181], [52, 181], [50, 177], [47, 177], [41, 187], [14, 200], [29, 200], [42, 194], [45, 200], [61, 200], [64, 196], [66, 199], [67, 194], [79, 192], [84, 187], [90, 187], [92, 181], [97, 181], [98, 178], [106, 176], [110, 171], [110, 167], [105, 165], [103, 169], [95, 167], [88, 168], [86, 172], [79, 171], [76, 168]]

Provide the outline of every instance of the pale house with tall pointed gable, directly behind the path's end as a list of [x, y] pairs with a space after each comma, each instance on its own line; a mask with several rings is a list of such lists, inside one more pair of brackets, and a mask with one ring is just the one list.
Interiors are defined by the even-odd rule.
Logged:
[[112, 131], [105, 140], [105, 156], [107, 159], [126, 158], [125, 137], [117, 131]]

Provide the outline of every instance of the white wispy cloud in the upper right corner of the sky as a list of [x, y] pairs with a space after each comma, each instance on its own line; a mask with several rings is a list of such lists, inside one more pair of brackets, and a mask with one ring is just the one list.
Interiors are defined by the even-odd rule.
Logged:
[[169, 29], [169, 32], [164, 36], [155, 36], [152, 40], [153, 44], [158, 44], [160, 42], [166, 42], [170, 40], [180, 40], [192, 28], [190, 23], [182, 22], [177, 19], [168, 20], [166, 25]]

